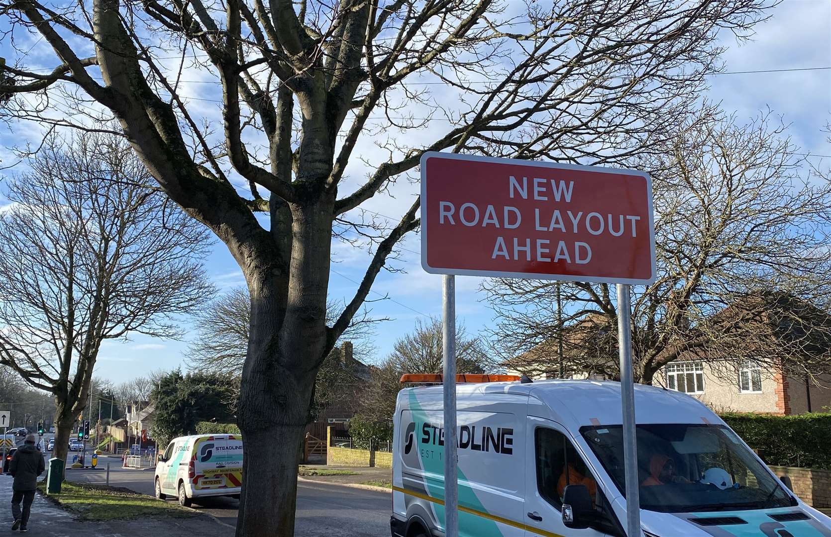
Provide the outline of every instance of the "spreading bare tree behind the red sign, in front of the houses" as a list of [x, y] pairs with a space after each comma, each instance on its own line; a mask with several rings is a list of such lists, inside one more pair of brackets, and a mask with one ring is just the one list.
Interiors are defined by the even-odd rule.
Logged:
[[[636, 164], [652, 172], [657, 278], [632, 288], [636, 378], [679, 358], [735, 371], [831, 373], [831, 184], [799, 158], [784, 127], [710, 120]], [[558, 322], [557, 290], [562, 291]], [[527, 373], [618, 378], [617, 310], [605, 284], [495, 280], [499, 362]]]

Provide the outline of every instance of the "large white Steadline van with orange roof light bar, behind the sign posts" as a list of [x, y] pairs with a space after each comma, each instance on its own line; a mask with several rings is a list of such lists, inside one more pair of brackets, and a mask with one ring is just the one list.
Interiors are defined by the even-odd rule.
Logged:
[[[398, 394], [393, 537], [445, 535], [442, 400], [440, 386]], [[626, 535], [619, 383], [459, 384], [457, 402], [460, 535]], [[637, 385], [635, 402], [646, 537], [831, 536], [696, 398]]]

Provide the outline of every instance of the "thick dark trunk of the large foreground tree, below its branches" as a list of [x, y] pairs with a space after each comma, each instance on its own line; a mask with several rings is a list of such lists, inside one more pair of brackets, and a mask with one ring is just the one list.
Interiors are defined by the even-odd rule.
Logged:
[[251, 330], [238, 405], [245, 451], [236, 535], [292, 537], [300, 442], [317, 373], [314, 364], [326, 344], [325, 321], [321, 319], [317, 337], [281, 332], [278, 281], [248, 281]]

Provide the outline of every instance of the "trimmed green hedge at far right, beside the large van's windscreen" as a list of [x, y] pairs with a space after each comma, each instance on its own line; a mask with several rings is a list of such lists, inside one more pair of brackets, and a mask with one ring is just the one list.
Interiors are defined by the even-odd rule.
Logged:
[[831, 413], [725, 413], [721, 418], [770, 465], [831, 470]]

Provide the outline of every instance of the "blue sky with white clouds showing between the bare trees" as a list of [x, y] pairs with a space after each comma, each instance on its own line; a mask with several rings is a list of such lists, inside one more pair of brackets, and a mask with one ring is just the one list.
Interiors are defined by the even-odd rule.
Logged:
[[[756, 28], [752, 41], [738, 44], [725, 38], [727, 51], [723, 56], [726, 71], [757, 71], [831, 66], [831, 0], [785, 0], [773, 12], [770, 21]], [[32, 41], [32, 53], [42, 52], [44, 66], [51, 66], [47, 59], [51, 54], [44, 45]], [[14, 57], [10, 51], [0, 55]], [[191, 71], [189, 79], [201, 80], [199, 72]], [[831, 155], [827, 134], [822, 132], [831, 120], [831, 70], [794, 71], [777, 73], [725, 74], [712, 76], [708, 98], [720, 102], [727, 112], [735, 112], [738, 120], [749, 120], [760, 110], [770, 107], [790, 125], [789, 134], [804, 152]], [[185, 86], [191, 96], [211, 96], [209, 84]], [[215, 113], [216, 105], [204, 106], [206, 115]], [[0, 158], [4, 164], [11, 162], [5, 148], [20, 144], [21, 137], [31, 135], [31, 127], [18, 127], [10, 133], [0, 131]], [[370, 144], [362, 148], [372, 150]], [[361, 151], [359, 150], [358, 153]], [[827, 167], [831, 159], [812, 158], [815, 164]], [[347, 185], [362, 178], [362, 171], [352, 168]], [[391, 217], [396, 221], [411, 204], [418, 185], [401, 180], [391, 189], [366, 204], [366, 209], [378, 217]], [[2, 190], [2, 187], [0, 187]], [[0, 199], [2, 205], [2, 199]], [[393, 266], [404, 272], [382, 272], [374, 286], [371, 298], [388, 295], [391, 300], [376, 301], [370, 305], [372, 315], [391, 320], [376, 325], [375, 357], [381, 359], [391, 350], [398, 337], [411, 330], [416, 318], [422, 315], [439, 316], [441, 312], [441, 277], [426, 274], [420, 268], [419, 237], [410, 235], [401, 244], [401, 257]], [[361, 280], [370, 257], [366, 250], [358, 250], [341, 243], [334, 244], [330, 277], [330, 300], [349, 300]], [[209, 274], [220, 289], [242, 286], [243, 276], [224, 245], [217, 242], [207, 260]], [[457, 314], [470, 332], [477, 332], [491, 320], [491, 312], [478, 292], [480, 278], [457, 277]], [[187, 320], [183, 320], [187, 325]], [[121, 382], [147, 373], [153, 369], [174, 369], [186, 355], [188, 342], [151, 339], [135, 336], [129, 341], [107, 342], [101, 348], [96, 366], [96, 376]]]

